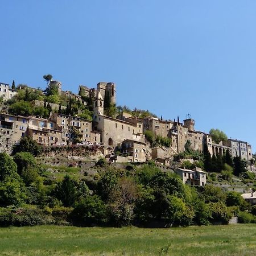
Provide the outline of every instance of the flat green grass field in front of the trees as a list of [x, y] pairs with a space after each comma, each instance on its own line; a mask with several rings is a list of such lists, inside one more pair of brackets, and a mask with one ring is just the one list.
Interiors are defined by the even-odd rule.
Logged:
[[0, 255], [256, 255], [256, 225], [0, 228]]

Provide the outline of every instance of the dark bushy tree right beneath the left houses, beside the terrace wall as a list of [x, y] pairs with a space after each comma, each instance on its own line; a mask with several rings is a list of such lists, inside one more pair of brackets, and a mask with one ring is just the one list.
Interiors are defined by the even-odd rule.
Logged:
[[42, 152], [43, 148], [31, 137], [22, 137], [19, 144], [16, 144], [13, 149], [13, 154], [18, 152], [30, 152], [34, 156], [38, 156]]

